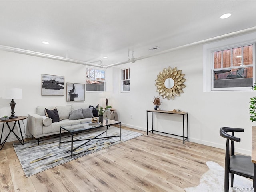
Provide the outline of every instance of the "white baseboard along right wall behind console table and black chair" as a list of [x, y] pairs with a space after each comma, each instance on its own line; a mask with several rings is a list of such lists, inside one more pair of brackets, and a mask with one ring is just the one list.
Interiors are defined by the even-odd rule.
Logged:
[[[133, 126], [133, 125], [130, 125], [130, 124], [124, 124], [124, 123], [121, 123], [121, 125], [123, 126], [126, 126], [126, 127], [129, 127], [129, 128], [134, 128], [134, 129], [137, 129], [137, 130], [141, 130], [141, 131], [147, 131], [146, 128], [143, 128], [143, 127], [138, 127], [138, 126]], [[160, 134], [160, 135], [164, 135], [164, 136], [168, 136], [168, 137], [173, 137], [173, 138], [177, 138], [177, 139], [182, 139], [182, 137], [176, 137], [176, 136], [172, 136], [172, 135], [169, 135], [169, 134], [162, 134], [162, 133], [157, 133], [157, 134]], [[218, 144], [218, 143], [214, 143], [214, 142], [209, 142], [209, 141], [205, 141], [205, 140], [199, 140], [199, 139], [196, 139], [196, 138], [188, 138], [190, 142], [194, 142], [194, 143], [198, 143], [198, 144], [202, 144], [202, 145], [206, 145], [206, 146], [211, 146], [211, 147], [216, 147], [216, 148], [220, 148], [220, 149], [226, 149], [226, 142], [224, 142], [224, 144]], [[241, 149], [241, 148], [236, 148], [236, 152], [238, 153], [241, 153], [241, 154], [246, 154], [246, 155], [249, 155], [251, 156], [252, 152], [250, 150], [244, 150], [244, 149]]]

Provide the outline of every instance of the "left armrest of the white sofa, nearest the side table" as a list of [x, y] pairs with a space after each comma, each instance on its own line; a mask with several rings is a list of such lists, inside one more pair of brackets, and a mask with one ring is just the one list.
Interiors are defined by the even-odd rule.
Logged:
[[38, 114], [28, 114], [28, 131], [37, 138], [43, 134], [43, 117]]

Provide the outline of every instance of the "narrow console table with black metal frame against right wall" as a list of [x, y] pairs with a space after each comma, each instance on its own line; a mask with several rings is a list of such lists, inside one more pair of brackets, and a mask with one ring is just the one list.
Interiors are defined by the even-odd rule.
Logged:
[[[152, 119], [151, 119], [152, 130], [149, 130], [149, 131], [148, 131], [148, 112], [151, 112], [151, 116], [152, 116]], [[183, 117], [183, 136], [154, 130], [153, 129], [153, 113], [170, 114], [170, 115], [182, 115], [182, 117]], [[184, 117], [185, 115], [187, 117], [187, 136], [185, 136], [185, 117]], [[165, 134], [169, 134], [169, 135], [183, 137], [183, 144], [185, 144], [185, 141], [186, 140], [188, 141], [188, 113], [187, 112], [179, 112], [179, 111], [173, 112], [173, 111], [147, 110], [147, 135], [148, 135], [148, 132], [152, 132], [153, 133], [153, 131], [160, 132], [160, 133], [165, 133]]]

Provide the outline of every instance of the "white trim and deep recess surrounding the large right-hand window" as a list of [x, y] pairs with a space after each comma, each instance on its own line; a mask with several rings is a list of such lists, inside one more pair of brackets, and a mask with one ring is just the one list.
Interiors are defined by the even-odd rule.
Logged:
[[[212, 73], [212, 51], [219, 50], [222, 48], [234, 47], [244, 44], [252, 44], [256, 42], [256, 32], [236, 36], [233, 38], [227, 38], [224, 40], [220, 40], [217, 42], [212, 42], [209, 44], [205, 44], [203, 46], [203, 92], [214, 92], [214, 91], [237, 91], [237, 90], [250, 90], [251, 87], [244, 87], [244, 88], [214, 88], [212, 90], [212, 80], [213, 80], [213, 73]], [[256, 81], [255, 77], [255, 50], [253, 52], [253, 82]], [[225, 89], [225, 90], [224, 90]]]

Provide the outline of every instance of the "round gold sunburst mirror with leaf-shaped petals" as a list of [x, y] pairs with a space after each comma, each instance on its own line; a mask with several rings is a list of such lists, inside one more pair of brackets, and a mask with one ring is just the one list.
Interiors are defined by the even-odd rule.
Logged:
[[159, 92], [159, 96], [163, 98], [174, 99], [175, 96], [180, 96], [183, 93], [183, 88], [186, 87], [183, 83], [186, 81], [183, 77], [185, 74], [181, 73], [182, 70], [177, 70], [177, 67], [173, 69], [168, 67], [159, 72], [156, 79], [156, 91]]

